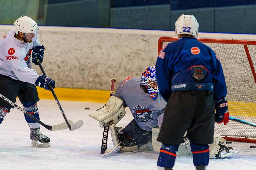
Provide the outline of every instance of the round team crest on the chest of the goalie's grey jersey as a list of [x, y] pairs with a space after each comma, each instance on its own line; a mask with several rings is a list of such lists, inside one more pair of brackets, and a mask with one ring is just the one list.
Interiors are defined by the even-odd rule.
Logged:
[[155, 110], [150, 110], [140, 105], [132, 109], [133, 117], [138, 119], [138, 121], [140, 122], [147, 122], [148, 120], [154, 120], [152, 118], [152, 112], [155, 112]]

